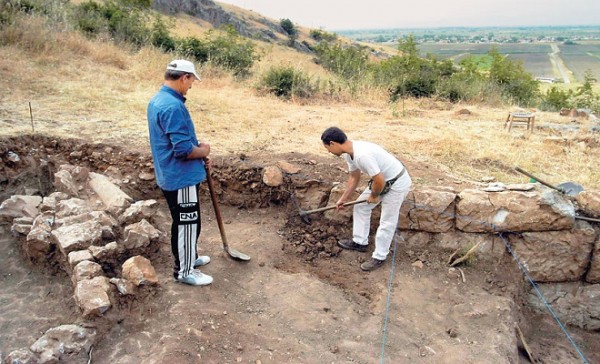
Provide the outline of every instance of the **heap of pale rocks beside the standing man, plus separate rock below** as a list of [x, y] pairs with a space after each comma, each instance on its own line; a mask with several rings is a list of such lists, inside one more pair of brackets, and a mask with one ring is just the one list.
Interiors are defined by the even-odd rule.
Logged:
[[[158, 202], [132, 203], [108, 177], [84, 167], [62, 165], [54, 178], [57, 191], [49, 196], [5, 200], [0, 221], [11, 224], [32, 262], [69, 274], [82, 316], [102, 317], [118, 296], [157, 284], [154, 267], [143, 255], [165, 238], [152, 223]], [[94, 329], [62, 325], [30, 348], [9, 353], [7, 360], [55, 363], [89, 350], [95, 336]]]

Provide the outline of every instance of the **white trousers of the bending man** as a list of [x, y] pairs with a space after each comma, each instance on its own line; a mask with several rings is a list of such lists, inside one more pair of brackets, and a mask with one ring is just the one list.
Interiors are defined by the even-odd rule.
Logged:
[[[410, 190], [412, 180], [408, 173], [404, 175], [392, 185], [389, 192], [381, 196], [381, 219], [379, 227], [375, 234], [375, 250], [373, 258], [385, 260], [390, 252], [390, 245], [396, 233], [398, 226], [398, 218], [400, 216], [400, 207], [404, 198]], [[360, 195], [359, 199], [366, 199], [371, 190], [367, 187]], [[371, 212], [378, 204], [361, 203], [354, 205], [352, 215], [352, 240], [356, 244], [367, 245], [369, 243], [369, 230], [371, 228]]]

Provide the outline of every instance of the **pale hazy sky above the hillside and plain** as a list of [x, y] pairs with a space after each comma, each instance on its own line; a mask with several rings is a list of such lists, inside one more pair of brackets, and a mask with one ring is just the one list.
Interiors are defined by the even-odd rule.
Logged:
[[600, 0], [217, 0], [328, 31], [597, 25]]

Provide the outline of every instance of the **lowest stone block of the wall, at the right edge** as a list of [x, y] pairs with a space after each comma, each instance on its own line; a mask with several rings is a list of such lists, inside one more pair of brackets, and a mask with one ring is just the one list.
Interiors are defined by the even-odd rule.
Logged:
[[[558, 283], [538, 284], [537, 287], [562, 323], [590, 331], [600, 329], [600, 284]], [[533, 288], [528, 302], [537, 311], [548, 312]]]

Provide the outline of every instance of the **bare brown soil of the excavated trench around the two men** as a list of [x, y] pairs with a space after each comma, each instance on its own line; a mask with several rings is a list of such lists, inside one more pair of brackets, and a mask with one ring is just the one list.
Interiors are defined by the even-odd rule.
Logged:
[[[109, 177], [134, 201], [157, 200], [150, 221], [169, 231], [148, 153], [24, 136], [1, 140], [0, 155], [0, 202], [13, 195], [49, 196], [54, 173], [68, 164]], [[284, 172], [276, 186], [265, 184], [265, 167], [281, 167], [281, 161], [297, 170]], [[1, 225], [0, 357], [29, 348], [50, 328], [78, 324], [96, 336], [86, 350], [64, 355], [67, 363], [373, 363], [381, 356], [393, 363], [525, 363], [519, 326], [539, 359], [580, 362], [552, 318], [525, 305], [529, 287], [508, 254], [482, 257], [459, 271], [447, 265], [451, 251], [407, 244], [402, 239], [409, 235], [401, 233], [391, 284], [392, 262], [361, 272], [370, 254], [336, 246], [351, 234], [347, 219], [316, 214], [306, 225], [290, 202], [293, 193], [303, 208], [324, 206], [335, 182], [345, 180], [340, 161], [302, 154], [215, 156], [213, 178], [229, 243], [252, 260], [234, 261], [223, 251], [203, 186], [198, 249], [213, 258], [203, 270], [215, 282], [203, 288], [174, 283], [164, 234], [102, 263], [105, 276], [118, 278], [127, 258], [142, 255], [158, 284], [141, 286], [135, 295], [113, 289], [112, 307], [99, 317], [82, 316], [69, 264], [58, 249], [32, 260], [23, 238], [11, 234], [10, 224]], [[375, 216], [373, 228], [376, 222]], [[122, 238], [121, 227], [112, 239]], [[494, 249], [502, 250], [500, 241]], [[584, 343], [588, 359], [598, 355], [597, 334], [569, 330]]]

